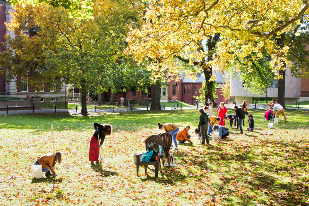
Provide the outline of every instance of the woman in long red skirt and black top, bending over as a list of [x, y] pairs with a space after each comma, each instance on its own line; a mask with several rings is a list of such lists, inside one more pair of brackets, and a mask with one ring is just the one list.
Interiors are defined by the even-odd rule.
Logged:
[[89, 161], [91, 161], [91, 165], [95, 165], [95, 163], [100, 164], [99, 148], [102, 146], [105, 136], [110, 135], [112, 133], [112, 129], [113, 128], [110, 124], [101, 125], [95, 122], [95, 133], [93, 134], [90, 140], [90, 148], [89, 148]]

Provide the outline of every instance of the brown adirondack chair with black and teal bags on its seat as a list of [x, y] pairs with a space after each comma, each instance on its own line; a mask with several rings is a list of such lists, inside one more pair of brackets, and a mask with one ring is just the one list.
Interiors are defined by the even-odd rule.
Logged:
[[[145, 140], [146, 149], [147, 149], [147, 146], [150, 145], [151, 143], [156, 143], [163, 148], [163, 140], [158, 135], [151, 135], [150, 137], [148, 137]], [[158, 177], [159, 168], [160, 168], [160, 172], [162, 174], [161, 165], [160, 165], [160, 158], [161, 158], [162, 155], [163, 154], [158, 154], [157, 155], [157, 161], [155, 161], [155, 162], [142, 162], [142, 161], [139, 161], [139, 155], [136, 154], [136, 175], [138, 176], [138, 167], [140, 165], [144, 165], [146, 174], [147, 174], [147, 166], [148, 165], [155, 166], [155, 177]]]

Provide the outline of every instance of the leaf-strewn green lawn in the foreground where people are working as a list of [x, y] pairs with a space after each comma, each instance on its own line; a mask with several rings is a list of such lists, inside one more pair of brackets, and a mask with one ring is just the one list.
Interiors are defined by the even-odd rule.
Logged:
[[[158, 178], [153, 166], [148, 175], [141, 167], [137, 177], [133, 153], [145, 151], [145, 139], [161, 132], [157, 122], [190, 125], [196, 137], [196, 110], [2, 115], [1, 205], [308, 205], [309, 111], [287, 109], [288, 123], [280, 116], [273, 129], [265, 111], [251, 110], [255, 132], [233, 129], [229, 139], [210, 147], [194, 138], [193, 145], [179, 145], [171, 151], [178, 166], [164, 167]], [[104, 163], [91, 167], [94, 122], [112, 124], [113, 133], [101, 148]], [[63, 155], [58, 176], [32, 179], [36, 157], [52, 151], [51, 124]], [[260, 135], [266, 131], [274, 135]], [[56, 196], [59, 191], [63, 196]]]

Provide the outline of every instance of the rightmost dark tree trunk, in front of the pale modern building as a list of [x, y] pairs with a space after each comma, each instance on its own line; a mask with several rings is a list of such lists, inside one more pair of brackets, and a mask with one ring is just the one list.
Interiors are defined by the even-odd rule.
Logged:
[[[280, 35], [280, 38], [277, 38], [277, 35], [274, 35], [277, 45], [280, 46], [280, 49], [284, 48], [285, 32]], [[285, 107], [285, 91], [286, 91], [286, 62], [283, 62], [284, 70], [280, 69], [279, 74], [282, 75], [282, 79], [278, 79], [278, 99], [277, 103], [281, 104], [282, 107]]]

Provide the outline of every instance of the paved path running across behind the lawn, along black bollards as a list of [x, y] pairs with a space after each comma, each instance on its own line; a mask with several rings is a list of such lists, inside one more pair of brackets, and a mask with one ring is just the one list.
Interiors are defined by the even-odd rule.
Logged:
[[[227, 104], [225, 105], [227, 109], [233, 109], [234, 110], [234, 104]], [[240, 107], [240, 105], [237, 105]], [[254, 105], [248, 105], [249, 106], [249, 111], [250, 109], [254, 109]], [[192, 110], [197, 110], [197, 107], [182, 107], [183, 109], [192, 109]], [[199, 106], [198, 109], [202, 108], [202, 106]], [[269, 106], [267, 105], [256, 105], [256, 109], [268, 109]], [[161, 107], [163, 110], [163, 107]], [[298, 109], [298, 108], [286, 108], [286, 109]], [[147, 107], [137, 107], [136, 111], [146, 111]], [[150, 110], [150, 107], [148, 107], [148, 110]], [[165, 107], [165, 110], [171, 110], [171, 107]], [[215, 109], [214, 109], [215, 110]], [[299, 110], [309, 110], [308, 108], [299, 108]], [[95, 109], [87, 109], [88, 112], [95, 112]], [[124, 112], [127, 111], [126, 107], [125, 108], [115, 108], [115, 112]], [[80, 113], [81, 110], [78, 109], [77, 113]], [[113, 112], [113, 109], [97, 109], [98, 112]], [[55, 109], [35, 109], [34, 113], [55, 113]], [[57, 109], [57, 113], [76, 113], [75, 109]], [[6, 111], [0, 111], [0, 114], [6, 114]], [[9, 110], [8, 114], [32, 114], [32, 110]]]

